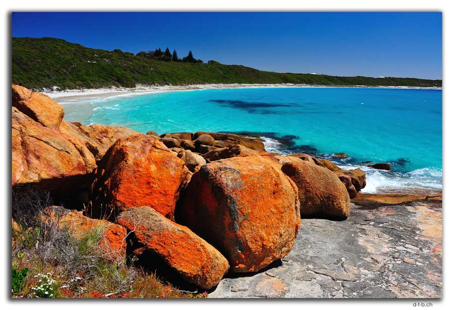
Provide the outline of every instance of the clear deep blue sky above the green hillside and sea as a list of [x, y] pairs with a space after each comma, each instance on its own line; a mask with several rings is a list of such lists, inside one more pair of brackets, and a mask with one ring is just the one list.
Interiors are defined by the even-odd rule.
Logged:
[[55, 37], [260, 70], [441, 79], [441, 13], [13, 13], [13, 37]]

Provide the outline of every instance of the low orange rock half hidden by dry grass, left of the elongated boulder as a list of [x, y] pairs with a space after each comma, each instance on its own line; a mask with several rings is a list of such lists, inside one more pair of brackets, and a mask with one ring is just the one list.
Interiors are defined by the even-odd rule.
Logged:
[[79, 240], [91, 236], [103, 259], [120, 264], [126, 258], [126, 228], [121, 225], [91, 219], [84, 216], [82, 211], [57, 206], [42, 210], [41, 220], [49, 225], [53, 223]]

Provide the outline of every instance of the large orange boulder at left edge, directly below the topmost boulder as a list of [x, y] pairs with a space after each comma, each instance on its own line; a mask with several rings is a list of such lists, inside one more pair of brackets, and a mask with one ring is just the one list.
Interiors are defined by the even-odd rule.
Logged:
[[13, 185], [40, 183], [44, 189], [63, 190], [69, 178], [95, 169], [94, 157], [76, 136], [44, 127], [13, 107]]

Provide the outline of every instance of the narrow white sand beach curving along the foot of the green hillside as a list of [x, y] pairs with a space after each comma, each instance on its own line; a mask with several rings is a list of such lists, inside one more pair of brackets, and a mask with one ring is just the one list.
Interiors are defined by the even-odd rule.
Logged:
[[365, 86], [365, 85], [309, 85], [309, 84], [194, 84], [194, 85], [164, 85], [147, 86], [137, 85], [135, 88], [107, 87], [71, 90], [39, 91], [58, 103], [68, 102], [74, 98], [86, 97], [90, 99], [105, 98], [118, 95], [162, 93], [169, 91], [193, 91], [209, 89], [236, 89], [236, 88], [395, 88], [395, 89], [440, 89], [439, 87], [414, 87], [414, 86]]

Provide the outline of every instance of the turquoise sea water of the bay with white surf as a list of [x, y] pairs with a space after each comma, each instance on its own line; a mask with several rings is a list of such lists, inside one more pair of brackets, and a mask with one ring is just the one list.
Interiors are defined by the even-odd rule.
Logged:
[[[237, 132], [269, 152], [309, 153], [367, 173], [363, 192], [442, 188], [442, 100], [437, 89], [237, 88], [128, 94], [65, 104], [65, 119], [142, 133]], [[333, 159], [333, 153], [348, 158]], [[392, 171], [364, 162], [387, 162]]]

